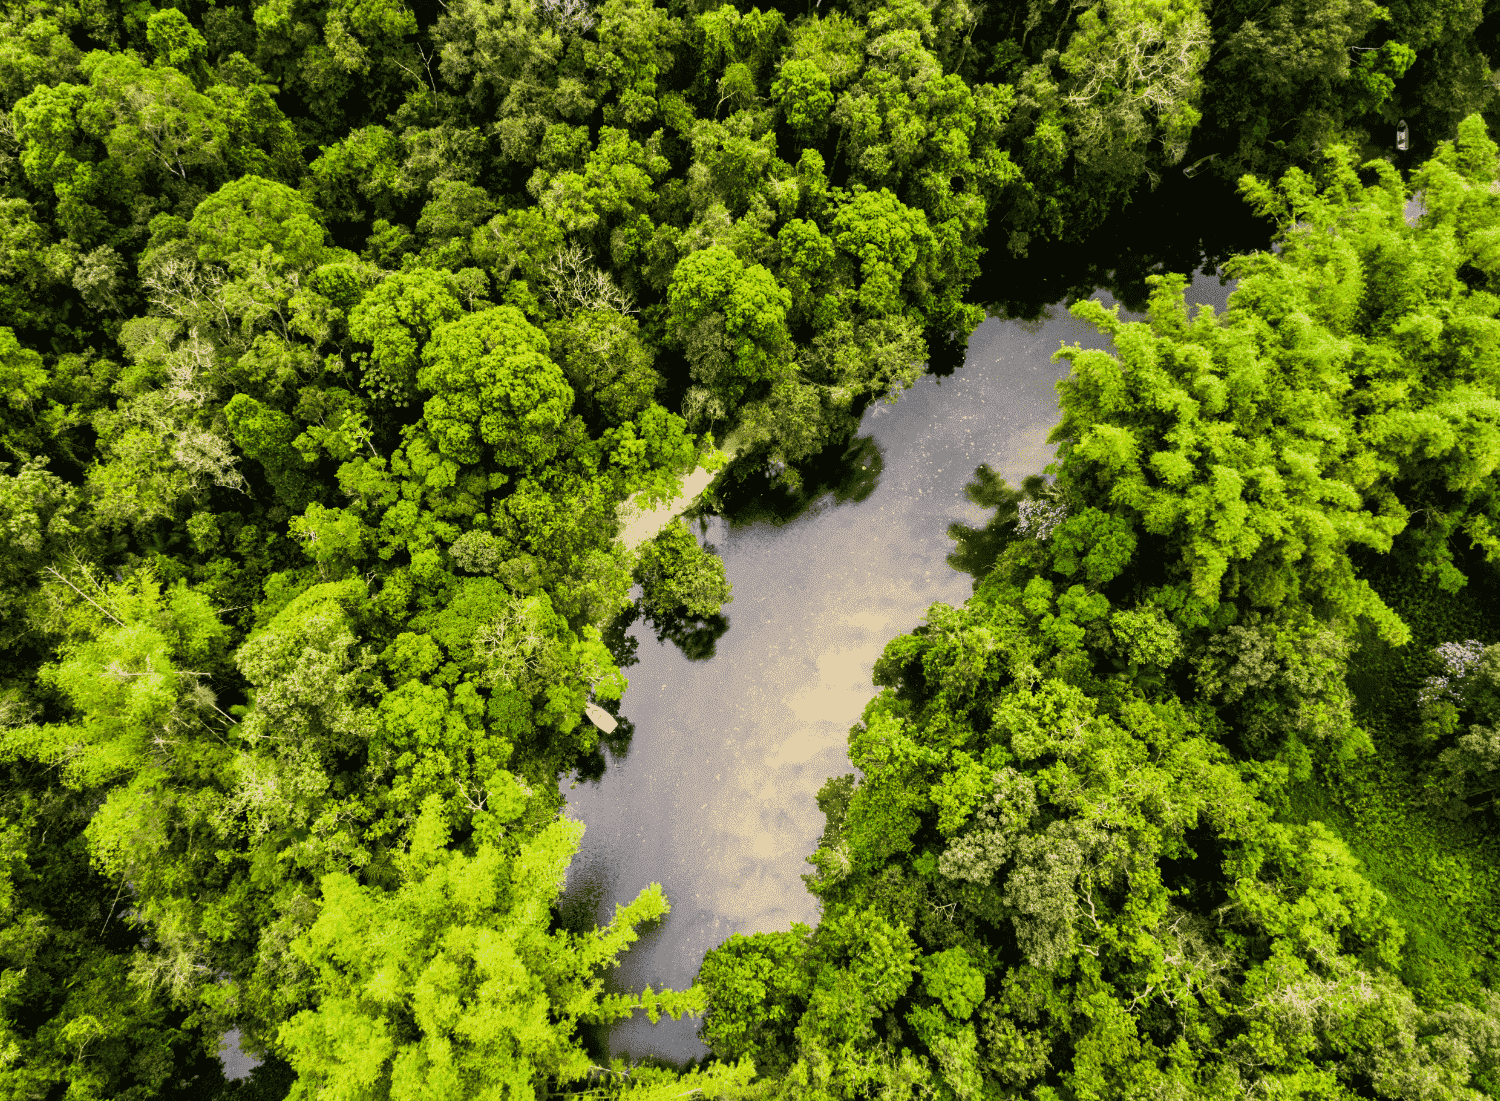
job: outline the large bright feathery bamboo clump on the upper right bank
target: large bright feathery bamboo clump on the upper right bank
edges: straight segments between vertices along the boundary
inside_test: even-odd
[[[1174,576],[1155,598],[1180,622],[1214,621],[1224,597],[1274,608],[1306,594],[1400,640],[1348,548],[1388,549],[1408,514],[1431,508],[1419,540],[1450,586],[1462,576],[1449,540],[1464,531],[1488,546],[1484,471],[1500,452],[1480,350],[1496,321],[1491,296],[1456,268],[1482,262],[1486,206],[1464,196],[1492,177],[1480,166],[1492,148],[1474,122],[1424,170],[1432,213],[1419,228],[1389,166],[1377,162],[1362,188],[1340,150],[1323,190],[1294,170],[1276,189],[1246,182],[1287,238],[1280,255],[1236,261],[1242,282],[1222,316],[1190,321],[1170,279],[1149,324],[1074,308],[1114,336],[1119,358],[1059,352],[1076,370],[1056,432],[1070,478],[1083,492],[1107,484],[1119,516],[1161,548]]]

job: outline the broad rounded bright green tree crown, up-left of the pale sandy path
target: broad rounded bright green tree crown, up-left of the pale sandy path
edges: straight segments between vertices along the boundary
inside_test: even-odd
[[[556,454],[573,387],[548,357],[548,338],[514,306],[470,314],[434,330],[417,384],[432,393],[426,424],[441,452],[478,462],[488,444],[501,466],[538,466]]]

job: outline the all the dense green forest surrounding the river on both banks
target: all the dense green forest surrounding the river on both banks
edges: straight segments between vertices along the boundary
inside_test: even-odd
[[[0,1094],[1500,1095],[1476,0],[0,12]],[[669,903],[562,920],[556,782],[729,596],[620,504],[1062,297],[1116,352],[878,663],[820,924],[608,992]]]

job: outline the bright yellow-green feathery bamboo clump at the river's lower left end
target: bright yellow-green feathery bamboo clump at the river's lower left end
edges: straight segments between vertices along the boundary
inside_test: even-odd
[[[483,794],[474,855],[447,850],[436,798],[423,804],[393,892],[345,874],[322,880],[318,920],[292,951],[316,975],[320,1005],[280,1030],[298,1082],[291,1096],[532,1096],[543,1080],[585,1077],[573,1028],[645,1008],[652,1022],[700,1006],[699,992],[603,994],[597,976],[666,915],[651,885],[606,928],[548,932],[582,826],[554,820],[507,836],[526,796],[506,772]]]

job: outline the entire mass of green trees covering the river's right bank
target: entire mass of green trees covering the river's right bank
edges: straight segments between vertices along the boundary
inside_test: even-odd
[[[1226,314],[1074,308],[1118,356],[1059,352],[1054,482],[981,471],[975,594],[886,646],[820,794],[822,922],[705,960],[718,1056],[784,1096],[1494,1095],[1497,172],[1470,118],[1408,226],[1335,147],[1246,183],[1281,249]]]

